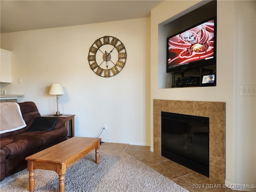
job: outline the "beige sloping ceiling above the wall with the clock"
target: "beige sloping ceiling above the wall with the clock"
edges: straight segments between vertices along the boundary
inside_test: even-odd
[[[1,0],[1,33],[150,17],[162,0]]]

